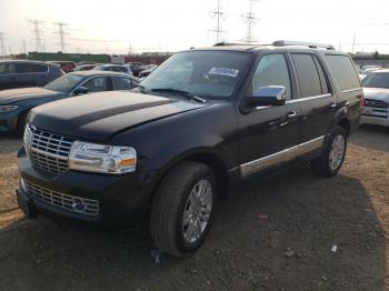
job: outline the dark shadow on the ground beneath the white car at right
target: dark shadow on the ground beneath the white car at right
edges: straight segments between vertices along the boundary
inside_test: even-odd
[[[350,142],[367,149],[389,152],[389,128],[362,124],[357,134],[351,136]]]

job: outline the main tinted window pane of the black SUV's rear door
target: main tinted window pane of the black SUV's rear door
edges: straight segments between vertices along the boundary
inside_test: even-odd
[[[321,82],[311,54],[291,54],[300,87],[300,98],[320,96]]]

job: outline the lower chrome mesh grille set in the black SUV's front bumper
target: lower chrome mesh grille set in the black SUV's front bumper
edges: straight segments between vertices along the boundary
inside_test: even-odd
[[[96,217],[99,214],[99,201],[73,197],[52,191],[21,179],[21,187],[29,195],[47,204],[71,212]]]

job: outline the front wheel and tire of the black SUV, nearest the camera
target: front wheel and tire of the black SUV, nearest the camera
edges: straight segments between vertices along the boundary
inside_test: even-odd
[[[196,195],[200,189],[207,190],[203,201]],[[150,234],[156,247],[178,258],[194,252],[211,225],[215,198],[215,173],[206,164],[182,162],[168,172],[151,208]]]

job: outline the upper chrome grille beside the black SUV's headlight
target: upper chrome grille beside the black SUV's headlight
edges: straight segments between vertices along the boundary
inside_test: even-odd
[[[27,126],[23,140],[33,165],[53,173],[68,170],[71,139]]]

